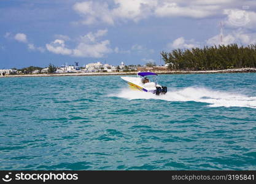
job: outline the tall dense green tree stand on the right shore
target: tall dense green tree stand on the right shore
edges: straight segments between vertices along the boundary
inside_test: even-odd
[[[171,70],[219,70],[241,67],[256,67],[256,44],[247,46],[214,45],[212,47],[175,49],[161,52]]]

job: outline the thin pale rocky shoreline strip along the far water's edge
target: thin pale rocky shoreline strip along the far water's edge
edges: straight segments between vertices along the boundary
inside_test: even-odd
[[[136,75],[136,72],[95,72],[95,73],[64,73],[64,74],[17,74],[0,75],[0,77],[60,77],[60,76],[93,76],[93,75]],[[152,71],[156,74],[225,74],[225,73],[254,73],[256,68],[225,69],[217,71]]]

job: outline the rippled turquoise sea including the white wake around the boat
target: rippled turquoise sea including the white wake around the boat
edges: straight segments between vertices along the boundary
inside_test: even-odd
[[[0,79],[0,169],[256,169],[256,74]]]

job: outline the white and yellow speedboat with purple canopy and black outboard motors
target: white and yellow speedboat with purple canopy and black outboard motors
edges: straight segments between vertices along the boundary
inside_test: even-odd
[[[153,80],[149,80],[147,77],[152,76]],[[157,74],[153,72],[138,72],[137,77],[121,77],[128,83],[130,88],[134,90],[140,90],[150,92],[153,94],[165,94],[167,93],[167,87],[161,86],[157,82]]]

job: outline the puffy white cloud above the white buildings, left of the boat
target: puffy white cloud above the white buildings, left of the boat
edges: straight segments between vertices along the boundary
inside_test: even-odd
[[[77,46],[75,48],[67,48],[65,41],[56,39],[50,44],[46,44],[46,48],[49,52],[71,55],[76,57],[91,57],[91,58],[103,58],[107,53],[113,52],[109,47],[109,40],[99,41],[99,37],[105,36],[107,29],[99,29],[96,33],[88,33],[84,36],[80,36],[77,39]]]

